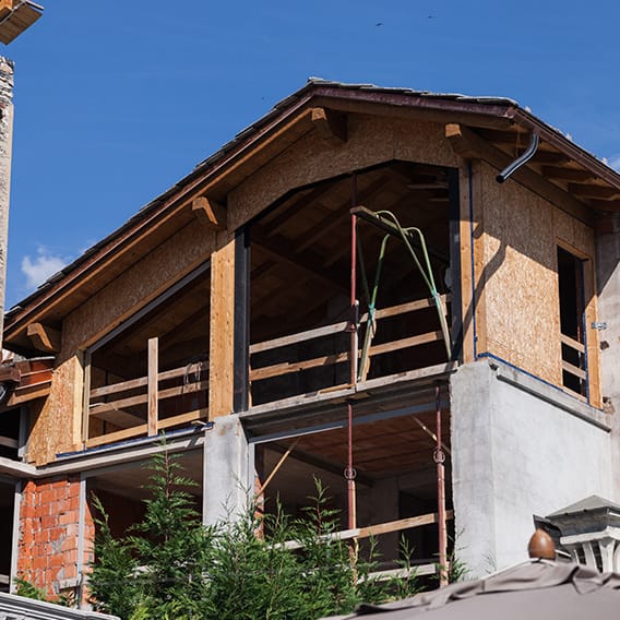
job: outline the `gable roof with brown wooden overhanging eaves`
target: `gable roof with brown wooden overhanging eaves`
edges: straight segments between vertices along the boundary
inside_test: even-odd
[[[583,220],[592,222],[596,211],[620,210],[620,175],[511,99],[310,81],[12,308],[5,317],[5,346],[34,353],[28,325],[60,326],[69,312],[190,224],[195,199],[225,205],[233,188],[306,133],[346,140],[348,114],[445,123],[446,139],[457,153],[497,168],[512,162],[536,131],[538,151],[514,174],[515,180],[534,186]]]

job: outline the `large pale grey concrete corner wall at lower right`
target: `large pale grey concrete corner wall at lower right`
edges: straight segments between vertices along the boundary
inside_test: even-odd
[[[610,419],[503,363],[451,380],[458,557],[480,576],[527,557],[533,515],[612,492]]]

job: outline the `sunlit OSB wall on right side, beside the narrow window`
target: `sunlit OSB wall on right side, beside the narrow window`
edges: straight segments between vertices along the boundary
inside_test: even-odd
[[[491,166],[477,170],[474,201],[482,210],[482,231],[476,281],[484,300],[478,321],[486,332],[478,354],[494,354],[560,385],[557,247],[569,243],[592,258],[594,231],[517,182],[498,183]]]

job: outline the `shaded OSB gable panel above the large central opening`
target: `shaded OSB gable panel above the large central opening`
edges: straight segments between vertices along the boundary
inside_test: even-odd
[[[334,146],[310,131],[228,194],[234,230],[287,191],[391,159],[458,166],[440,123],[348,115],[348,140]]]

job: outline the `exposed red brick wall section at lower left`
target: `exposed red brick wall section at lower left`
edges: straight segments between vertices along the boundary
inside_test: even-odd
[[[85,511],[84,558],[91,553],[94,525]],[[55,596],[78,577],[80,480],[29,480],[22,493],[17,574]]]

